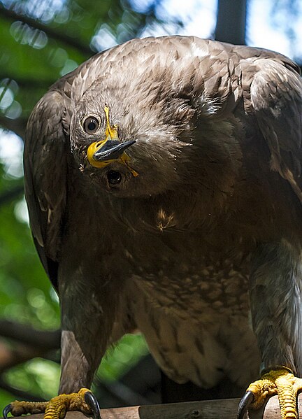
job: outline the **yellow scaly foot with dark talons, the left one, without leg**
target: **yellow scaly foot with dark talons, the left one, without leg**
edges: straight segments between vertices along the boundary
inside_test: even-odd
[[[67,411],[81,411],[85,415],[101,419],[99,404],[90,390],[81,388],[78,393],[59,395],[49,402],[12,402],[3,409],[3,417],[8,413],[21,416],[26,413],[45,413],[44,419],[63,419]]]

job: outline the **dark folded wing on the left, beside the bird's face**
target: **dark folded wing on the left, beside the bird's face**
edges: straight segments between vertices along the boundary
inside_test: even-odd
[[[57,287],[57,254],[66,203],[67,154],[62,94],[50,91],[27,123],[24,187],[29,221],[41,262]]]

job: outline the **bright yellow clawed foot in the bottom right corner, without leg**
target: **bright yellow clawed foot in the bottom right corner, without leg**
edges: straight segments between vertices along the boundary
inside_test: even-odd
[[[240,400],[237,418],[243,419],[247,409],[259,409],[268,397],[278,395],[281,418],[298,419],[296,399],[300,390],[302,378],[295,377],[289,369],[280,367],[268,371],[247,388]]]

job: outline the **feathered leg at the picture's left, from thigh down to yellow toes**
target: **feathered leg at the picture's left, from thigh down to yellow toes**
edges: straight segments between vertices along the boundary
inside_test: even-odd
[[[70,251],[69,255],[72,254]],[[13,402],[6,413],[10,411],[15,416],[45,411],[47,419],[62,419],[66,411],[77,410],[99,418],[98,403],[88,389],[110,339],[118,293],[113,292],[109,280],[102,282],[99,278],[97,261],[92,266],[88,258],[87,265],[80,269],[72,267],[78,264],[66,257],[59,271],[64,277],[60,281],[59,276],[62,315],[59,396],[44,404]],[[81,272],[87,273],[89,281],[80,276]]]

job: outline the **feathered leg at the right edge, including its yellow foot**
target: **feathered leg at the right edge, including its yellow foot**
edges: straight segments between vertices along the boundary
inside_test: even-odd
[[[252,262],[252,323],[264,373],[250,384],[240,402],[238,419],[247,408],[259,409],[278,395],[282,419],[299,417],[296,398],[301,374],[301,256],[287,241],[259,246]]]

